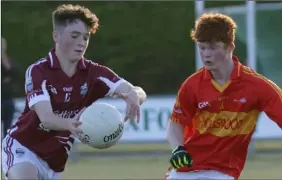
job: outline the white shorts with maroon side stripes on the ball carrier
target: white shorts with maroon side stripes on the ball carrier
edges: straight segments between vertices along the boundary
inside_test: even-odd
[[[32,163],[37,168],[39,179],[58,180],[60,177],[61,173],[54,172],[44,160],[7,135],[2,141],[3,173],[6,175],[11,166],[21,162]]]

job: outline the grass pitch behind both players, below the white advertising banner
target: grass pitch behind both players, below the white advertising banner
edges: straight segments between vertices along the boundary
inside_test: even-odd
[[[281,150],[282,141],[258,142],[257,150]],[[107,150],[94,150],[85,145],[77,147],[80,152],[129,153],[167,151],[167,155],[83,157],[74,163],[69,161],[62,179],[164,179],[168,167],[170,148],[167,144],[118,144]],[[267,153],[247,160],[240,179],[282,179],[282,154]]]

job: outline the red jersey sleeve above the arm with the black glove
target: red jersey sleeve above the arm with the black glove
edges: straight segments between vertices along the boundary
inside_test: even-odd
[[[196,113],[196,95],[189,81],[185,81],[177,94],[170,120],[193,128]]]

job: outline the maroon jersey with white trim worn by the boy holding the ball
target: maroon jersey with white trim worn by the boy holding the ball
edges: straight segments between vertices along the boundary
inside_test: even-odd
[[[43,127],[32,109],[40,101],[50,101],[53,112],[63,118],[74,117],[82,108],[105,96],[125,82],[112,70],[81,59],[77,72],[68,77],[60,68],[55,49],[48,56],[28,67],[25,74],[26,106],[9,131],[12,138],[29,148],[51,169],[61,172],[74,142],[69,131],[54,131]]]

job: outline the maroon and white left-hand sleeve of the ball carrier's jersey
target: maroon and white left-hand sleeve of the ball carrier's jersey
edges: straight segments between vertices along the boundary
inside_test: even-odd
[[[40,101],[50,101],[43,73],[34,65],[31,65],[25,73],[25,93],[30,109]]]

